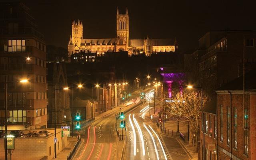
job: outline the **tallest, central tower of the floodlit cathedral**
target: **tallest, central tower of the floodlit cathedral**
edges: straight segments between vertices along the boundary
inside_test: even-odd
[[[117,8],[116,13],[116,44],[117,51],[127,50],[129,46],[129,15],[126,8],[126,14],[119,14]]]

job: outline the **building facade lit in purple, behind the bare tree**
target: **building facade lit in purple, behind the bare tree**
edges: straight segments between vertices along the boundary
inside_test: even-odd
[[[163,70],[163,69],[161,69]],[[161,73],[162,76],[164,76],[164,83],[166,87],[168,88],[168,97],[172,98],[172,89],[173,84],[176,83],[179,87],[180,94],[183,93],[183,87],[182,83],[185,80],[185,74],[184,73]]]

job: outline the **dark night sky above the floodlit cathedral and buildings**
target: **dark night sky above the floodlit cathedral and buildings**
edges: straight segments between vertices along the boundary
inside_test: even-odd
[[[244,0],[23,0],[47,45],[67,48],[72,20],[82,20],[84,38],[115,38],[116,8],[128,7],[130,38],[177,38],[180,50],[198,47],[210,30],[256,30],[254,4]],[[109,2],[109,3],[108,3]],[[153,3],[154,2],[154,3]],[[253,2],[253,1],[250,1]]]

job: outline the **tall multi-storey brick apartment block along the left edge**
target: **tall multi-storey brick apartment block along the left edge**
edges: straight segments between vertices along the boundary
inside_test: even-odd
[[[7,77],[8,130],[47,127],[46,45],[29,8],[0,4],[0,125],[4,125]],[[26,79],[28,82],[21,83]]]

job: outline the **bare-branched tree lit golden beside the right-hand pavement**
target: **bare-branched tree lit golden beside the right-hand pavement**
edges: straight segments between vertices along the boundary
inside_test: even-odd
[[[190,140],[189,144],[192,145],[193,134],[196,134],[196,142],[198,141],[199,127],[200,127],[200,109],[205,106],[208,101],[208,96],[201,93],[191,91],[184,92],[182,95],[177,93],[170,103],[162,103],[166,110],[166,113],[174,117],[184,117],[190,125]],[[197,151],[197,143],[196,143]]]

